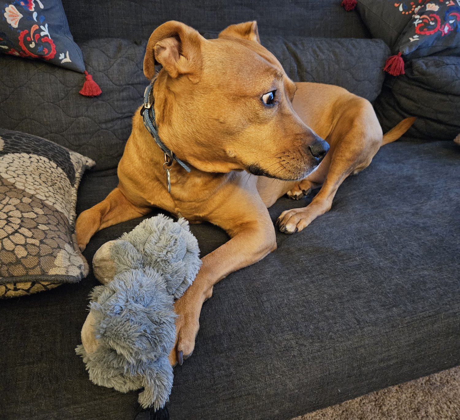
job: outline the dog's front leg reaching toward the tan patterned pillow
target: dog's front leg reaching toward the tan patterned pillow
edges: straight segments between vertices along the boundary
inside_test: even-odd
[[[75,222],[77,244],[81,251],[94,233],[104,227],[126,222],[150,212],[150,207],[137,207],[132,204],[117,187],[99,204],[83,211]]]

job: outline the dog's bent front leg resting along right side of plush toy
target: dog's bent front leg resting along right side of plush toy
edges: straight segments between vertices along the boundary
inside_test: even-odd
[[[222,227],[230,240],[201,259],[195,281],[174,303],[176,343],[170,353],[171,365],[182,364],[195,347],[203,302],[212,296],[213,286],[228,274],[264,258],[276,249],[275,229],[267,209],[258,203],[235,200],[214,212],[210,222]],[[238,210],[238,211],[236,211]]]

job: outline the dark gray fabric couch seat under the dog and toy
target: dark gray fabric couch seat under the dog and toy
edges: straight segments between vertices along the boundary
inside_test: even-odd
[[[174,369],[171,420],[288,420],[459,364],[459,165],[452,141],[386,145],[330,212],[277,232],[275,252],[218,283]],[[113,170],[86,174],[77,211],[116,184]],[[270,216],[310,200],[283,197]],[[140,220],[98,232],[85,257]],[[201,255],[227,240],[209,224],[191,231]],[[3,418],[134,418],[137,393],[92,385],[74,353],[97,284],[90,274],[0,304]]]

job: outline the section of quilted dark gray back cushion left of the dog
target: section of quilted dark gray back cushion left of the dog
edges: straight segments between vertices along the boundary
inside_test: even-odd
[[[147,85],[145,47],[119,39],[82,44],[86,68],[103,91],[98,98],[78,93],[75,72],[0,55],[0,126],[89,156],[97,169],[115,168]]]

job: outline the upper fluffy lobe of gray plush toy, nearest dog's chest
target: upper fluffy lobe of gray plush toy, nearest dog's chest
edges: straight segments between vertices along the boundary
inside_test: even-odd
[[[181,297],[200,268],[199,248],[184,218],[164,215],[144,220],[120,239],[102,245],[92,260],[93,272],[103,284],[132,268],[151,267],[162,274],[167,292]]]

